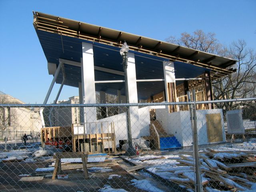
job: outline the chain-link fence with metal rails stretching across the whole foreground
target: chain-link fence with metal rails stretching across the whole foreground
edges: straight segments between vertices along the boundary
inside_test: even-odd
[[[2,104],[0,190],[256,190],[255,111],[214,108],[240,101]]]

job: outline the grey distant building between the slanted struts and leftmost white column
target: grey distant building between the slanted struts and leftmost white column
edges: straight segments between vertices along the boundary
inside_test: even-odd
[[[57,101],[57,104],[79,104],[79,96],[72,96],[69,100]],[[71,126],[80,122],[79,107],[74,108],[44,108],[44,122],[46,127]]]

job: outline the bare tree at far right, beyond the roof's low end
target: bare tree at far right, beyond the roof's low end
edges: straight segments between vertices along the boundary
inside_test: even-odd
[[[215,99],[251,98],[256,96],[256,52],[246,48],[244,40],[233,42],[225,48],[226,56],[237,60],[236,72],[212,83]],[[246,103],[230,102],[218,104],[224,110],[239,108]],[[247,104],[253,104],[252,102]]]

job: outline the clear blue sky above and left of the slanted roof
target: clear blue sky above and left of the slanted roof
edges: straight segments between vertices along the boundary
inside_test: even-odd
[[[223,44],[244,39],[256,49],[255,0],[0,0],[0,90],[30,104],[44,101],[52,81],[33,10],[158,40],[202,29]],[[74,95],[78,88],[64,86],[59,99]]]

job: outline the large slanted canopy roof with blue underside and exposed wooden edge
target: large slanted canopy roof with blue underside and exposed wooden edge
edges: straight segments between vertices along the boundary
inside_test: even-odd
[[[210,71],[212,78],[226,76],[233,72],[226,67],[236,61],[198,50],[146,38],[118,30],[69,20],[40,12],[34,13],[34,27],[44,50],[46,59],[58,65],[59,59],[80,63],[82,57],[82,42],[94,44],[95,80],[124,80],[122,75],[122,58],[119,54],[124,40],[131,52],[135,53],[136,78],[162,79],[163,60],[172,60],[175,67],[176,78],[191,78]],[[146,67],[145,67],[146,66]],[[101,68],[116,70],[120,74],[108,74]],[[62,82],[66,76],[66,85],[77,86],[81,82],[80,67],[65,63],[57,83]],[[102,78],[104,77],[104,78]],[[114,86],[114,87],[112,87]],[[163,82],[154,82],[146,86],[146,82],[137,82],[138,97],[146,98],[148,94],[156,94],[164,90]],[[140,89],[141,88],[141,89]],[[150,89],[151,88],[151,89]],[[119,89],[124,93],[124,84],[96,84],[96,90]],[[150,90],[146,90],[150,89]]]

